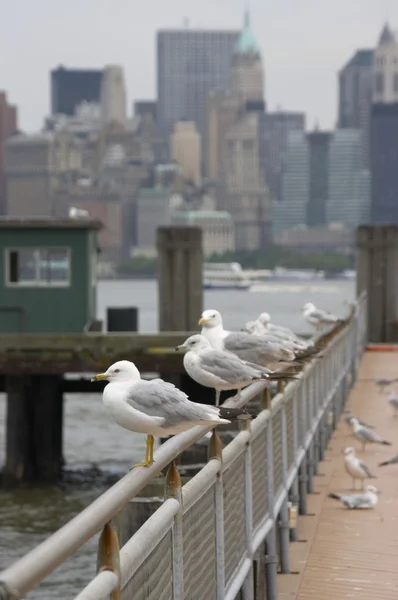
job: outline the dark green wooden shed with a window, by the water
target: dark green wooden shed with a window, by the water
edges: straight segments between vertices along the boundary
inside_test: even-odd
[[[91,329],[101,227],[88,218],[0,218],[0,333]]]

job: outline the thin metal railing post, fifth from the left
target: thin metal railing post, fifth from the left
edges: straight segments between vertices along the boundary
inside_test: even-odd
[[[268,419],[267,423],[267,468],[268,468],[268,506],[269,512],[272,515],[274,521],[273,526],[268,532],[266,543],[267,543],[267,554],[265,557],[266,570],[267,570],[267,600],[277,600],[278,598],[278,587],[277,587],[277,574],[278,574],[278,555],[276,550],[276,533],[275,533],[275,510],[274,510],[274,459],[273,459],[273,447],[272,447],[272,416]]]

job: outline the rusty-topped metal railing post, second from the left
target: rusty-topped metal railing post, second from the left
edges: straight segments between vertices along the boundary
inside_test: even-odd
[[[165,497],[175,498],[180,504],[180,510],[174,517],[173,523],[173,600],[184,598],[184,553],[183,553],[183,511],[182,511],[182,482],[173,461],[167,471]]]

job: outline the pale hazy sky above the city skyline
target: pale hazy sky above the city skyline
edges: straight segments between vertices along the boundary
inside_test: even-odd
[[[20,127],[49,113],[49,71],[121,64],[129,110],[156,94],[155,33],[183,26],[240,28],[245,0],[2,0],[0,89],[19,107]],[[373,47],[386,20],[398,29],[397,0],[250,0],[263,49],[266,99],[303,110],[322,128],[336,119],[339,68]]]

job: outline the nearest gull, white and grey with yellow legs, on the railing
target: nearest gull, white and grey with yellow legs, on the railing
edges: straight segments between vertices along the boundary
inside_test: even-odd
[[[244,409],[217,408],[191,402],[172,383],[162,379],[141,379],[134,363],[120,360],[99,373],[92,381],[108,380],[102,400],[108,414],[124,429],[145,433],[145,459],[134,467],[150,467],[154,463],[154,438],[168,437],[196,425],[207,427],[230,423],[230,419],[247,419]]]

